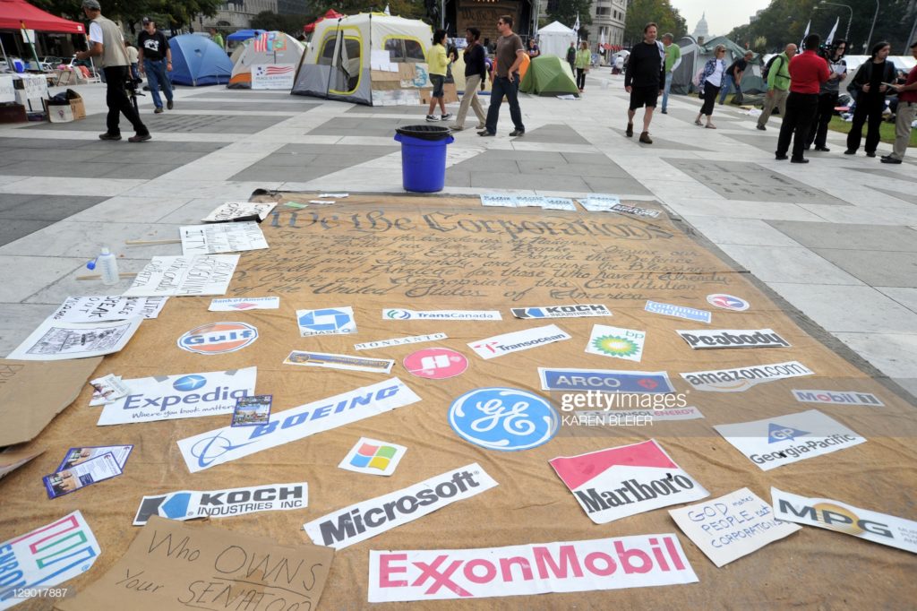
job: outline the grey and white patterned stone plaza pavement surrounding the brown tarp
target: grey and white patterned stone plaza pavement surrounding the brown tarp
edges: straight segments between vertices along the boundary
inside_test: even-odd
[[[136,272],[181,247],[127,247],[125,239],[175,239],[182,224],[255,189],[402,192],[394,129],[425,115],[420,106],[179,88],[175,109],[161,115],[140,98],[153,140],[133,145],[96,139],[104,85],[80,93],[82,121],[0,126],[0,354],[67,295],[105,292],[76,280],[102,245],[124,256],[121,271]],[[506,108],[497,138],[455,134],[445,192],[661,202],[917,394],[917,151],[887,170],[862,152],[842,155],[844,137],[831,133],[830,153],[790,165],[774,160],[776,117],[762,133],[752,117],[717,106],[719,129],[697,128],[699,103],[684,96],[654,117],[655,143],[646,145],[624,138],[626,105],[623,80],[598,73],[580,101],[523,95],[525,137],[507,136]]]

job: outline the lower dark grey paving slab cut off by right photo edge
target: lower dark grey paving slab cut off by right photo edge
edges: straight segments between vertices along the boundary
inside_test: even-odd
[[[917,230],[888,225],[765,221],[810,249],[917,252]]]

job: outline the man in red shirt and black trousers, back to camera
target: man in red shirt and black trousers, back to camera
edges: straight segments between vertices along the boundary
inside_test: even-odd
[[[805,37],[805,51],[790,60],[790,96],[787,98],[787,114],[783,117],[777,140],[777,161],[787,158],[790,139],[793,139],[793,132],[796,132],[790,163],[809,162],[802,158],[802,151],[805,150],[812,119],[818,110],[818,93],[822,83],[831,75],[828,62],[816,53],[821,42],[822,37],[818,34],[810,34]]]

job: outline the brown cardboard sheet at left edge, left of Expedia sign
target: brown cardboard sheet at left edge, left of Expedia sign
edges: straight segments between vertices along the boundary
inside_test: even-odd
[[[76,400],[100,362],[102,357],[47,362],[0,359],[0,447],[37,437]]]

